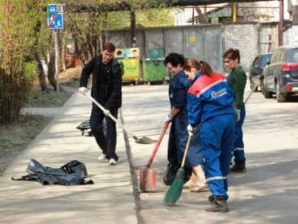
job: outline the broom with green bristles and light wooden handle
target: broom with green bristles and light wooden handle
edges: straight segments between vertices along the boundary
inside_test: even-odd
[[[189,135],[187,139],[187,145],[185,147],[185,151],[183,154],[183,159],[182,159],[182,164],[180,169],[178,169],[177,174],[175,176],[175,180],[173,181],[172,185],[170,188],[167,190],[167,193],[165,194],[165,198],[163,198],[163,202],[165,203],[166,206],[175,206],[176,201],[181,196],[182,189],[183,189],[183,184],[184,184],[184,163],[186,160],[187,156],[187,151],[189,149],[189,144],[190,140],[192,139],[192,136]]]

